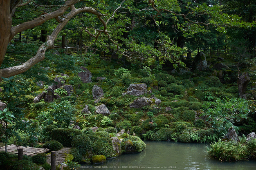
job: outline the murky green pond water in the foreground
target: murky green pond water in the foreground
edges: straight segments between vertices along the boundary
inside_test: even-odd
[[[220,162],[205,152],[209,144],[184,144],[168,141],[145,141],[141,153],[122,154],[94,165],[81,165],[79,170],[256,170],[256,161]]]

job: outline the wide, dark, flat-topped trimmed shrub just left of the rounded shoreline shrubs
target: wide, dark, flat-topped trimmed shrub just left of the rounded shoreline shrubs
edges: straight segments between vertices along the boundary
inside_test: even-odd
[[[71,147],[73,137],[81,134],[77,129],[56,128],[52,130],[52,139],[61,142],[64,147]]]

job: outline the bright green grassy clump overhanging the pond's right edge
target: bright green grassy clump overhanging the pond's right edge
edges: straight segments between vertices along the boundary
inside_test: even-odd
[[[207,147],[209,157],[219,161],[239,161],[248,159],[247,147],[238,142],[213,142]]]

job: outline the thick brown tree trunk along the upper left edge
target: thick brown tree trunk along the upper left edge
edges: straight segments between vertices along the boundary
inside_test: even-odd
[[[0,1],[0,65],[4,61],[4,55],[7,51],[9,38],[11,37],[11,11],[10,1]]]

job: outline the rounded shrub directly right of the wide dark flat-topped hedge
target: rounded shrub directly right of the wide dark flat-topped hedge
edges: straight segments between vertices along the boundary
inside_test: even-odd
[[[84,150],[91,150],[93,143],[86,134],[77,135],[72,139],[72,148],[82,148]],[[73,155],[74,156],[74,155]]]

